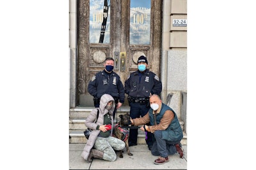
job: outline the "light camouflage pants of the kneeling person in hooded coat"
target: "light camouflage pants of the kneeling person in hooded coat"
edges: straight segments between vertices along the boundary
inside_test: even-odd
[[[104,152],[104,160],[115,161],[116,153],[115,150],[122,150],[125,147],[124,141],[109,136],[108,138],[98,137],[93,146],[95,149]]]

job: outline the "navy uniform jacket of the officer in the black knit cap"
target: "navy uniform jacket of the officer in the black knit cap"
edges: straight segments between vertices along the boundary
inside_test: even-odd
[[[139,71],[130,74],[125,81],[125,93],[131,97],[149,97],[151,94],[160,94],[162,91],[162,82],[158,76],[148,69],[140,75]]]

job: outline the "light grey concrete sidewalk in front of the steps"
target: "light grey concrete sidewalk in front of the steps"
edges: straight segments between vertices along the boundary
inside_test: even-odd
[[[184,159],[179,157],[179,153],[169,155],[169,162],[162,165],[154,164],[157,156],[151,154],[147,145],[131,146],[132,156],[127,155],[124,148],[124,158],[119,158],[115,162],[101,159],[93,159],[92,163],[87,163],[81,157],[85,144],[69,144],[69,169],[187,169],[187,146],[183,145],[185,151]]]

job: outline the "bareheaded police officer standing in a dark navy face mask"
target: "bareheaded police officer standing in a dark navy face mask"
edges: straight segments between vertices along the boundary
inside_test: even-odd
[[[114,59],[106,58],[104,62],[105,69],[99,71],[88,84],[88,92],[93,96],[95,108],[99,108],[100,97],[103,94],[109,94],[115,99],[115,110],[113,118],[115,118],[116,109],[120,108],[124,103],[124,85],[120,80],[120,76],[113,71]]]

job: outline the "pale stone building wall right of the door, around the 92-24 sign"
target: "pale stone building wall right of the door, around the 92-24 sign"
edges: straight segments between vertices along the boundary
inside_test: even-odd
[[[182,95],[187,92],[187,27],[173,27],[172,20],[187,18],[187,1],[164,0],[163,3],[162,99],[179,119],[184,119]]]

